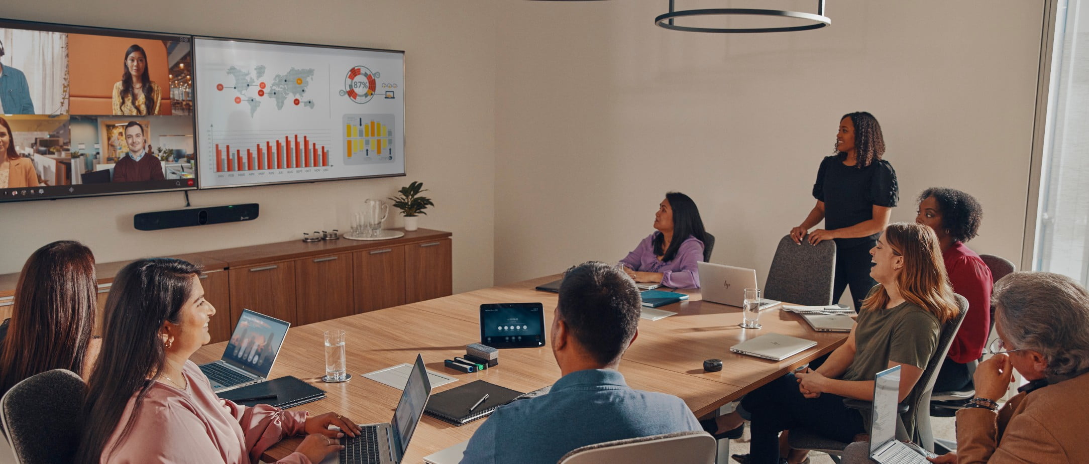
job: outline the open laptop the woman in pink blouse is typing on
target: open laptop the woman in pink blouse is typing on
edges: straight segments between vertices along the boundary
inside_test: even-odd
[[[393,411],[393,420],[360,425],[360,434],[357,437],[340,438],[340,444],[344,449],[326,456],[321,464],[400,463],[430,398],[431,381],[427,378],[424,357],[417,354],[404,392],[401,393],[401,401]]]

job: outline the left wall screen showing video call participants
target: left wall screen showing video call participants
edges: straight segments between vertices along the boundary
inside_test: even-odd
[[[191,36],[0,20],[0,202],[195,188]]]

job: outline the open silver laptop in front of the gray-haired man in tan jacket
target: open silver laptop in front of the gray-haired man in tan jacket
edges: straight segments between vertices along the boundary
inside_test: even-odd
[[[896,440],[896,403],[900,400],[900,366],[873,376],[873,414],[870,415],[870,459],[881,464],[928,464],[928,453]]]

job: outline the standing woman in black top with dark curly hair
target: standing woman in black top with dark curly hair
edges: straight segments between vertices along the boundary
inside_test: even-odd
[[[851,286],[855,310],[877,282],[870,278],[870,248],[889,224],[896,206],[896,171],[882,160],[884,138],[881,124],[866,111],[845,114],[835,135],[835,155],[824,157],[817,170],[813,198],[817,206],[794,229],[797,244],[807,240],[816,245],[835,240],[835,283],[832,300],[840,301]],[[824,220],[824,229],[806,236],[810,228]]]

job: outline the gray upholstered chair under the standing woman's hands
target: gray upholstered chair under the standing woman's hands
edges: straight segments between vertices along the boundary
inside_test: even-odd
[[[763,297],[797,305],[832,304],[835,241],[798,245],[790,235],[779,241],[763,284]]]

